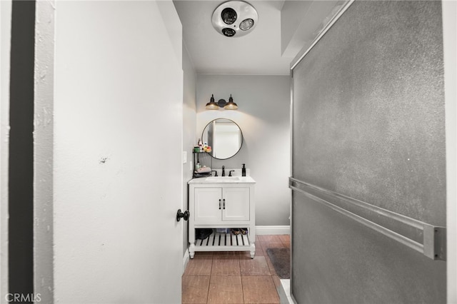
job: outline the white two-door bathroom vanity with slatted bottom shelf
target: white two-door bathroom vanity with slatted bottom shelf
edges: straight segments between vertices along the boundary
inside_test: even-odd
[[[189,181],[189,253],[249,251],[256,253],[254,186],[251,176],[211,176]],[[204,240],[196,229],[212,229]],[[218,232],[227,230],[226,232]]]

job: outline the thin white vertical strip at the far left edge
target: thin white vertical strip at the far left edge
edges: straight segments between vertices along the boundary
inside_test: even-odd
[[[8,292],[8,156],[11,1],[0,1],[0,303]]]

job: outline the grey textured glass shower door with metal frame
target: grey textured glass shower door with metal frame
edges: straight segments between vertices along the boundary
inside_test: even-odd
[[[442,39],[440,1],[355,1],[293,68],[292,178],[320,189],[293,191],[297,303],[446,303],[445,261],[320,203],[446,226]]]

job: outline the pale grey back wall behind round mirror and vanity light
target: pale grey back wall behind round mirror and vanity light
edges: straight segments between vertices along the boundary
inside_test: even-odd
[[[243,132],[236,156],[214,160],[213,168],[241,168],[256,180],[256,226],[288,226],[290,191],[289,76],[197,75],[197,136],[214,118],[229,118]],[[205,109],[211,94],[238,104],[238,110]],[[191,148],[191,147],[189,147]]]

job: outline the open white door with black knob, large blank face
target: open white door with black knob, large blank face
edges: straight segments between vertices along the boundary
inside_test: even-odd
[[[179,303],[183,74],[173,4],[56,1],[55,23],[54,301]]]

